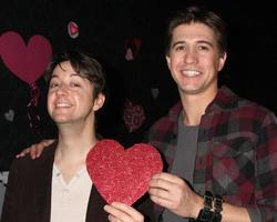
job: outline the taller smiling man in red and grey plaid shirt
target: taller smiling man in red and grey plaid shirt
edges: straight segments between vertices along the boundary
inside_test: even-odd
[[[148,191],[162,221],[277,221],[276,117],[218,88],[225,29],[197,7],[168,24],[165,56],[181,101],[146,137],[168,164]]]

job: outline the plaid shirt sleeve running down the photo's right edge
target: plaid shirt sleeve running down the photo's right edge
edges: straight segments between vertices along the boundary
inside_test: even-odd
[[[253,222],[277,221],[277,120],[269,113],[256,147],[255,205],[248,208]]]

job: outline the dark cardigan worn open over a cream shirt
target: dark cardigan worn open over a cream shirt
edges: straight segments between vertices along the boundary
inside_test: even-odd
[[[28,155],[13,161],[1,222],[50,222],[55,147],[57,143],[47,148],[39,159],[31,160]],[[105,204],[92,185],[85,221],[107,222],[107,213],[103,210]],[[145,215],[145,221],[154,221],[153,204],[147,195],[140,199],[134,206]]]

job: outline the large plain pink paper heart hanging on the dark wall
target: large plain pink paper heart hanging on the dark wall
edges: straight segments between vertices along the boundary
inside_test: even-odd
[[[45,71],[52,56],[52,48],[42,36],[31,37],[25,46],[20,34],[9,31],[1,36],[0,52],[9,70],[31,84]]]

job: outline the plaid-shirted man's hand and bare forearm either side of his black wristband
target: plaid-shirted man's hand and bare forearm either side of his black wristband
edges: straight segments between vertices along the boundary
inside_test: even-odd
[[[170,174],[160,173],[150,181],[151,200],[173,213],[196,219],[204,208],[204,199],[195,193],[184,180]],[[223,222],[250,222],[247,209],[223,203]]]

